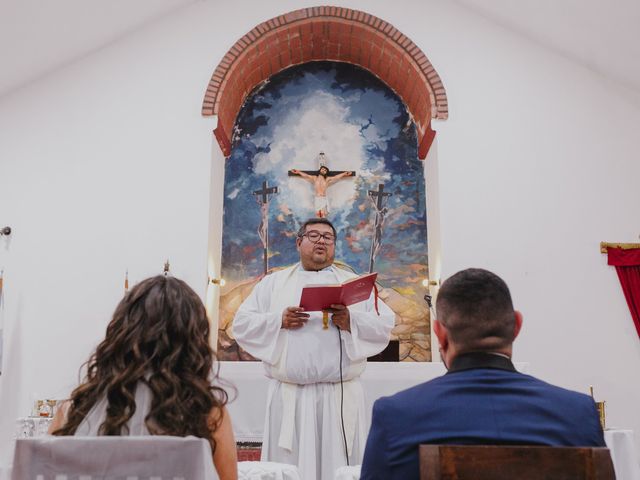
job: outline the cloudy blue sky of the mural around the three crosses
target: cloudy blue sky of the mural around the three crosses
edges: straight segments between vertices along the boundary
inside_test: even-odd
[[[226,163],[222,274],[231,281],[262,274],[260,208],[252,192],[267,181],[279,193],[269,205],[270,267],[298,260],[295,232],[313,216],[313,188],[288,177],[314,170],[325,152],[332,170],[356,177],[329,187],[329,218],[339,233],[336,259],[365,272],[378,184],[392,192],[382,249],[374,270],[384,286],[418,295],[427,275],[422,162],[416,132],[401,100],[370,73],[348,64],[316,62],[287,69],[243,106]]]

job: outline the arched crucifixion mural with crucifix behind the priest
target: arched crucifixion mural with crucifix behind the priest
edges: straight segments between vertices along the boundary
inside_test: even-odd
[[[225,164],[220,359],[252,359],[233,338],[235,311],[265,274],[298,261],[298,228],[323,216],[338,232],[336,265],[378,272],[379,296],[396,314],[397,360],[431,360],[417,149],[402,100],[359,67],[306,63],[252,92]]]

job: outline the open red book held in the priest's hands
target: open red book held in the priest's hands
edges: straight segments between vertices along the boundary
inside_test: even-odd
[[[332,304],[353,305],[371,296],[378,274],[367,273],[337,285],[307,285],[302,289],[300,306],[307,312],[331,308]]]

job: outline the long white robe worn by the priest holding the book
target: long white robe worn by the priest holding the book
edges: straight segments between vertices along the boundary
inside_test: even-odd
[[[358,377],[367,357],[388,344],[394,313],[379,300],[378,315],[373,295],[350,306],[351,332],[341,332],[340,345],[338,329],[331,322],[329,330],[322,329],[321,312],[309,312],[306,325],[288,330],[281,328],[282,311],[299,305],[305,285],[341,283],[354,276],[333,266],[315,272],[296,264],[264,277],[233,320],[238,344],[262,360],[272,378],[262,460],[297,465],[305,480],[332,480],[335,470],[347,464],[341,397],[349,463],[362,463],[367,432]]]

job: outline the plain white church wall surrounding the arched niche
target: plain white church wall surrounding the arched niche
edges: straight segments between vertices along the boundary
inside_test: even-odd
[[[450,3],[336,3],[394,24],[447,88],[432,258],[442,277],[468,266],[503,276],[525,315],[516,360],[553,383],[594,385],[610,424],[640,432],[640,340],[598,251],[601,240],[640,233],[638,106]],[[201,2],[0,98],[0,226],[15,232],[0,240],[0,465],[29,402],[77,381],[125,269],[135,281],[169,258],[204,297],[207,270],[218,268],[207,256],[208,242],[219,245],[208,238],[209,183],[220,188],[223,168],[202,97],[237,38],[300,7]]]

